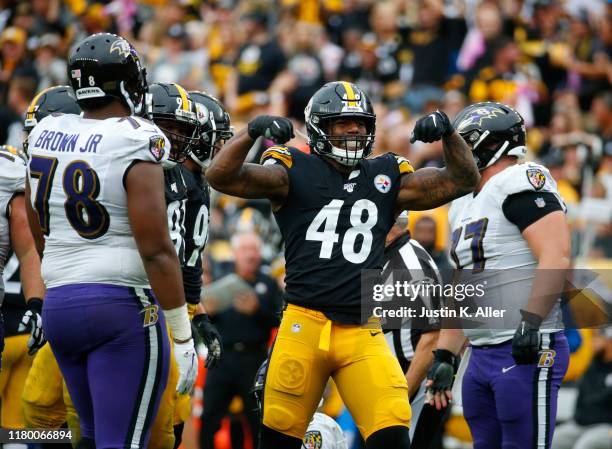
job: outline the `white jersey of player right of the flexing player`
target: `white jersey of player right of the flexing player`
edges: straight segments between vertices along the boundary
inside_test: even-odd
[[[509,315],[481,319],[490,324],[489,329],[464,329],[472,344],[510,340],[520,322],[519,309],[524,309],[529,300],[537,260],[520,229],[502,209],[509,195],[525,191],[551,192],[565,210],[548,169],[532,162],[507,167],[491,177],[476,196],[469,193],[451,203],[451,260],[455,268],[464,269],[470,282],[485,283],[485,296],[476,305],[506,310]],[[535,207],[544,207],[543,201],[536,197]],[[556,306],[544,320],[542,330],[556,331],[559,323],[560,308]]]

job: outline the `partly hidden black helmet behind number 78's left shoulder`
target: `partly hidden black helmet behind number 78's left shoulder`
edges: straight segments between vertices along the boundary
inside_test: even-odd
[[[26,133],[29,134],[38,122],[55,112],[81,114],[81,107],[70,86],[48,87],[36,94],[26,110],[24,121]]]

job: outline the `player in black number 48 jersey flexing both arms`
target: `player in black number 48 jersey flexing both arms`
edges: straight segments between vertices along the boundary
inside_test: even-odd
[[[478,169],[440,111],[417,121],[412,140],[442,139],[445,168],[414,171],[394,154],[368,159],[376,116],[354,84],[323,86],[305,119],[312,154],[282,145],[293,137],[288,119],[259,116],[207,170],[221,192],[268,198],[285,240],[288,305],[265,382],[260,449],[300,448],[330,376],[367,448],[408,448],[408,386],[379,324],[361,326],[361,270],[380,270],[400,211],[465,195]],[[261,136],[278,145],[261,165],[244,163]]]

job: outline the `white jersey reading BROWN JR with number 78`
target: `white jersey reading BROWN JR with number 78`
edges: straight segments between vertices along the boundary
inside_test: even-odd
[[[125,176],[136,161],[164,163],[170,143],[135,117],[50,115],[30,133],[31,202],[45,234],[47,288],[76,283],[148,287],[132,235]]]

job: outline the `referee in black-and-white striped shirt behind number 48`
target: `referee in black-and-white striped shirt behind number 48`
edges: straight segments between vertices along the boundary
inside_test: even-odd
[[[404,211],[387,234],[382,278],[384,283],[419,282],[430,279],[442,282],[436,263],[429,253],[410,238],[408,212]],[[440,308],[439,297],[419,296],[412,307]],[[404,318],[401,329],[385,329],[385,338],[406,374],[410,389],[412,448],[428,448],[436,434],[444,410],[425,404],[425,376],[433,363],[433,350],[438,340],[439,318]]]

